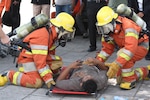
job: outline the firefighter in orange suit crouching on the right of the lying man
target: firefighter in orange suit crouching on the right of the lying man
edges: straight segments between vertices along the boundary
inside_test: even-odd
[[[133,70],[136,61],[145,57],[148,52],[148,36],[141,36],[141,27],[134,21],[119,16],[110,7],[104,6],[97,13],[97,30],[102,34],[102,49],[96,59],[105,62],[119,48],[117,57],[109,67],[108,78],[117,77],[121,89],[132,89],[137,80],[148,76],[150,67],[139,67]]]

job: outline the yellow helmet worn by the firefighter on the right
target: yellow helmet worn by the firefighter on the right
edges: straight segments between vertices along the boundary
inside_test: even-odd
[[[118,17],[118,14],[115,13],[109,6],[102,7],[97,12],[97,26],[103,26],[110,23],[113,19]]]

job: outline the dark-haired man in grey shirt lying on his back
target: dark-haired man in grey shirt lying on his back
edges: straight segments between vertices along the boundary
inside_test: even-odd
[[[108,67],[95,58],[88,58],[85,61],[78,60],[62,71],[56,80],[56,87],[95,93],[107,86],[107,70]]]

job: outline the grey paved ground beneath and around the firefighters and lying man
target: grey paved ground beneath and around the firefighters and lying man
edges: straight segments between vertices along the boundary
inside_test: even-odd
[[[58,47],[57,54],[63,58],[64,66],[66,66],[78,59],[84,60],[87,57],[94,57],[96,51],[87,52],[88,46],[88,39],[76,36],[71,42],[67,42],[66,47]],[[99,39],[97,40],[97,47],[98,51],[101,48]],[[116,54],[114,53],[108,59],[108,62],[113,61],[115,57]],[[147,64],[149,64],[149,61],[143,59],[137,62],[135,67]],[[0,73],[10,69],[17,70],[15,64],[13,64],[13,57],[0,58]],[[108,84],[108,87],[100,91],[97,97],[95,95],[61,95],[51,93],[45,95],[48,91],[45,87],[31,89],[7,84],[0,87],[0,100],[150,100],[150,81],[138,82],[136,88],[132,90],[121,90],[119,86],[115,85],[113,79],[109,80]]]

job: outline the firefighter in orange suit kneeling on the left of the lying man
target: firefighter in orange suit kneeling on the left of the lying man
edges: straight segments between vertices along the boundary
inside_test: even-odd
[[[23,48],[19,54],[17,63],[22,70],[10,70],[0,75],[0,86],[8,81],[30,88],[40,88],[43,82],[48,88],[55,85],[53,75],[62,66],[61,57],[55,55],[55,44],[65,46],[67,34],[74,32],[75,21],[71,15],[62,12],[50,19],[50,23],[50,27],[40,27],[23,39],[31,50]]]

